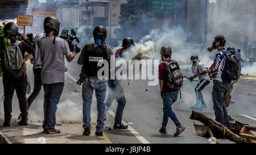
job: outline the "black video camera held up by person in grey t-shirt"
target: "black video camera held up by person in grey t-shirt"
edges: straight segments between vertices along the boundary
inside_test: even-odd
[[[76,31],[72,28],[71,29],[71,35],[68,34],[68,30],[62,30],[60,33],[60,37],[67,40],[69,50],[73,51],[73,47],[76,45],[73,44],[73,40],[76,40],[77,43],[80,43],[79,38],[76,36]],[[81,48],[76,47],[76,53],[79,53],[81,51]]]

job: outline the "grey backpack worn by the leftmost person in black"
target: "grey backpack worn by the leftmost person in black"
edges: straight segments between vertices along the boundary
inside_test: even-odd
[[[10,45],[9,48],[5,49],[3,55],[5,68],[8,70],[10,77],[13,78],[22,76],[25,68],[22,52],[18,47],[20,43],[21,41],[16,41],[15,44]]]

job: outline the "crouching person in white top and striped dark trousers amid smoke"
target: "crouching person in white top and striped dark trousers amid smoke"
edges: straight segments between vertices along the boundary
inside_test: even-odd
[[[196,77],[199,77],[200,82],[197,84],[195,88],[196,92],[196,104],[191,108],[207,108],[207,105],[204,103],[203,94],[201,91],[210,83],[210,77],[208,75],[208,70],[205,68],[205,65],[202,64],[197,55],[191,56],[191,62],[193,63],[191,69],[194,76],[190,77],[188,80],[193,81]],[[201,104],[200,104],[201,103]]]

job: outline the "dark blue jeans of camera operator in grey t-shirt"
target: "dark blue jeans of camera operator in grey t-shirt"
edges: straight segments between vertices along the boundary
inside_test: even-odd
[[[44,122],[43,128],[55,129],[57,104],[63,91],[64,83],[44,84]]]

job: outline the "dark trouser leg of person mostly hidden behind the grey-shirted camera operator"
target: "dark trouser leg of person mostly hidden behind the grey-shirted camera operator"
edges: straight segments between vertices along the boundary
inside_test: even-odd
[[[27,110],[30,109],[32,102],[38,96],[38,94],[40,93],[40,90],[42,88],[41,71],[42,71],[42,68],[34,69],[34,90],[33,90],[32,94],[30,95],[30,97],[27,98],[27,104],[28,104]]]

